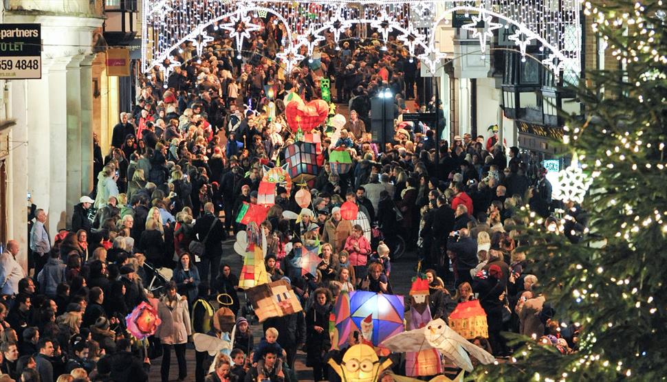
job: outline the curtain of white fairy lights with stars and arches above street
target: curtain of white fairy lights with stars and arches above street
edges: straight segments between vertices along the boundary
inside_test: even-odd
[[[190,1],[146,0],[143,3],[142,69],[157,66],[168,74],[179,65],[171,59],[184,44],[197,53],[212,42],[210,32],[227,30],[236,52],[243,50],[251,32],[260,30],[259,18],[281,28],[283,38],[276,41],[278,61],[288,71],[300,60],[312,56],[318,44],[332,36],[340,37],[354,29],[358,37],[377,32],[386,43],[389,34],[406,47],[430,71],[446,58],[437,42],[437,27],[452,27],[452,15],[463,14],[461,25],[478,38],[482,59],[488,44],[505,21],[516,26],[510,36],[518,51],[538,43],[547,52],[542,63],[560,76],[562,71],[580,71],[580,0],[265,0],[265,1]],[[382,47],[386,49],[386,46]],[[525,58],[524,58],[525,59]]]

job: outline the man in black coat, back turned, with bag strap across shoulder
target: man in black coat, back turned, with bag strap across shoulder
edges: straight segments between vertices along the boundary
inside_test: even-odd
[[[214,215],[213,203],[204,205],[204,216],[197,219],[195,223],[195,234],[197,240],[204,243],[204,254],[199,255],[199,277],[201,281],[215,280],[220,268],[222,257],[222,242],[227,240],[227,232],[223,223]],[[210,272],[210,278],[209,278]]]

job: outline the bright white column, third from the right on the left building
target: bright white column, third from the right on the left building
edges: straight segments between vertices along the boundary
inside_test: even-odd
[[[51,237],[67,224],[67,64],[70,60],[70,56],[54,58],[48,76],[51,181],[47,227]]]

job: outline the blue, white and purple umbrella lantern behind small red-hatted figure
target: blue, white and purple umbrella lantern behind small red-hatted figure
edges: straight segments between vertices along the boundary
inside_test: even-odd
[[[375,292],[353,291],[350,293],[352,321],[364,332],[362,321],[371,316],[373,346],[397,333],[402,333],[405,305],[402,295],[386,295]]]

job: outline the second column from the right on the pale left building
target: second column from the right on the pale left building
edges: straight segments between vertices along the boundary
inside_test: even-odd
[[[72,207],[81,197],[81,67],[83,55],[67,64],[67,208],[65,226],[72,222]]]

